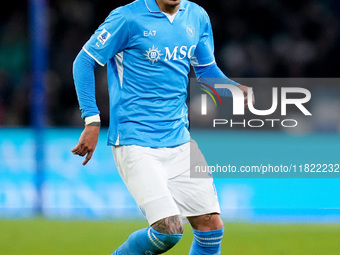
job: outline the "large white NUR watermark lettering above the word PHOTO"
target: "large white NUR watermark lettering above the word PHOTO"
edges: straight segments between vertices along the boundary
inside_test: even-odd
[[[233,115],[244,115],[244,95],[243,92],[234,85],[227,84],[216,84],[215,90],[219,89],[228,89],[230,90],[233,97]],[[303,95],[302,98],[289,98],[288,94],[295,93]],[[248,87],[248,108],[249,111],[258,116],[268,116],[274,113],[278,107],[278,88],[272,89],[272,105],[267,110],[258,110],[255,109],[252,100],[253,88]],[[304,115],[311,116],[312,114],[306,109],[304,106],[305,103],[309,102],[311,99],[311,93],[309,90],[304,88],[290,88],[284,87],[281,88],[281,115],[287,115],[287,105],[295,105]],[[206,95],[202,95],[202,108],[201,114],[207,114],[207,104],[206,104]]]

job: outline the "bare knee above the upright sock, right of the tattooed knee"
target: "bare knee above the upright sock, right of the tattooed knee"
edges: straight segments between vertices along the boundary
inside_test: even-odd
[[[224,227],[223,221],[217,213],[188,218],[191,226],[199,231],[218,230]]]

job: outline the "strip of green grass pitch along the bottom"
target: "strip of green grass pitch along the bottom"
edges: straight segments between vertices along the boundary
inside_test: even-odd
[[[1,255],[110,255],[145,222],[0,221]],[[189,225],[166,254],[188,254]],[[222,254],[339,255],[340,225],[226,223]]]

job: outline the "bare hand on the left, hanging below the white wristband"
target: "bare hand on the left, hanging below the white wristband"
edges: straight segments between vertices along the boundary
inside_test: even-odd
[[[83,166],[92,158],[93,152],[96,149],[99,137],[100,127],[98,126],[85,126],[84,131],[81,133],[78,144],[71,151],[74,155],[84,157]]]

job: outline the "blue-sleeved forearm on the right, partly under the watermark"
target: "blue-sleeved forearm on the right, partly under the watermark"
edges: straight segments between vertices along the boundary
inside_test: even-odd
[[[231,84],[240,85],[239,83],[229,79],[216,63],[204,67],[194,67],[197,79],[201,83],[208,84],[215,87],[215,84]],[[231,96],[231,92],[228,89],[216,89],[217,93],[221,96]]]

